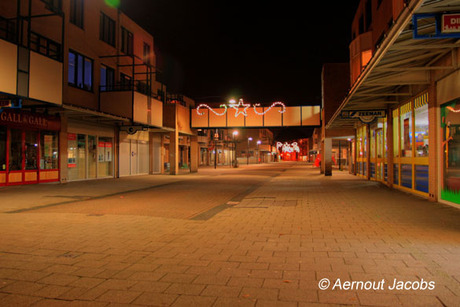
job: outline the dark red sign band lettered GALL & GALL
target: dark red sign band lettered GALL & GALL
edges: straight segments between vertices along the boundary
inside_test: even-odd
[[[3,112],[0,113],[0,124],[53,131],[59,131],[61,129],[61,122],[57,117],[23,111],[13,111],[10,109],[3,110]]]

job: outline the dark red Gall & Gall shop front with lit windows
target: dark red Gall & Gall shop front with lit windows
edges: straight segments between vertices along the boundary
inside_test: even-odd
[[[59,181],[59,117],[0,113],[0,185]]]

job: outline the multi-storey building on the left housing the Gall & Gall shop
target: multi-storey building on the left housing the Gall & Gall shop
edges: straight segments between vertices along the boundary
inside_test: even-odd
[[[152,35],[107,3],[0,3],[0,185],[193,165],[184,148],[196,137],[182,120],[193,101],[165,107],[175,100],[156,81]]]

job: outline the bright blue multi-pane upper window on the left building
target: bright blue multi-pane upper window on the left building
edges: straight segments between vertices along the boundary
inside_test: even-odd
[[[69,51],[70,85],[87,90],[93,90],[93,60],[74,51]]]

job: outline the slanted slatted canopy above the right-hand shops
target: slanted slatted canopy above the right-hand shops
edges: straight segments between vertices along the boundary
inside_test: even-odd
[[[455,70],[454,49],[460,47],[458,38],[414,39],[412,33],[414,14],[446,11],[460,11],[459,1],[410,1],[326,128],[354,128],[357,120],[341,118],[342,111],[387,109],[417,94],[412,91],[412,86],[428,86],[431,71]],[[420,31],[431,33],[435,24],[427,20],[418,27]],[[452,57],[450,64],[437,64],[449,54]]]

